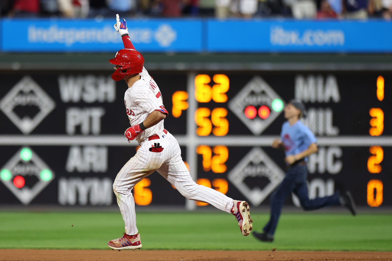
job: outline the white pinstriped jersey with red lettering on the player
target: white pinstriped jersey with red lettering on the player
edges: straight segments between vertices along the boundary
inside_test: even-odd
[[[136,81],[125,92],[124,103],[131,126],[142,123],[154,110],[159,110],[167,115],[158,85],[144,67],[142,73],[140,73],[140,80]],[[136,136],[136,140],[145,140],[162,132],[163,120],[140,133]]]

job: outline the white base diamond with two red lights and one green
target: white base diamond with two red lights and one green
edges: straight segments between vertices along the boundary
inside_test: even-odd
[[[245,108],[249,105],[267,105],[271,108],[272,101],[282,98],[260,76],[253,77],[249,83],[229,102],[230,110],[249,128],[254,135],[260,135],[282,111],[270,110],[267,119],[245,116]],[[283,100],[282,100],[283,101]],[[283,102],[284,104],[284,102]]]

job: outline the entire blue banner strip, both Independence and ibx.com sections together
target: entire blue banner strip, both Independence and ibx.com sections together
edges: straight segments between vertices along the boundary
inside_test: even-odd
[[[116,52],[113,20],[3,19],[2,52]],[[146,19],[127,21],[140,52],[392,52],[385,20]]]

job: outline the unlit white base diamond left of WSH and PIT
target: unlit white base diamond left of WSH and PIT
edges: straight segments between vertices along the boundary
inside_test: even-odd
[[[36,106],[39,112],[31,118],[15,113],[17,106]],[[53,99],[30,77],[23,77],[0,101],[0,109],[24,134],[29,134],[54,109]]]

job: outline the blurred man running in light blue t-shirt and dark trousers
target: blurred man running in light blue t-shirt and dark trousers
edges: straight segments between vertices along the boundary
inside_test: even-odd
[[[274,140],[272,148],[283,149],[286,154],[287,164],[286,176],[282,183],[271,194],[270,206],[271,217],[263,232],[253,232],[253,235],[261,241],[273,241],[276,225],[283,202],[287,195],[294,192],[304,210],[319,209],[321,207],[343,205],[347,207],[353,215],[356,214],[354,200],[349,191],[340,196],[336,191],[332,196],[309,199],[307,187],[307,157],[315,153],[318,148],[316,137],[299,119],[305,112],[303,103],[292,100],[285,107],[284,113],[286,122],[282,125],[280,133],[281,140]]]

